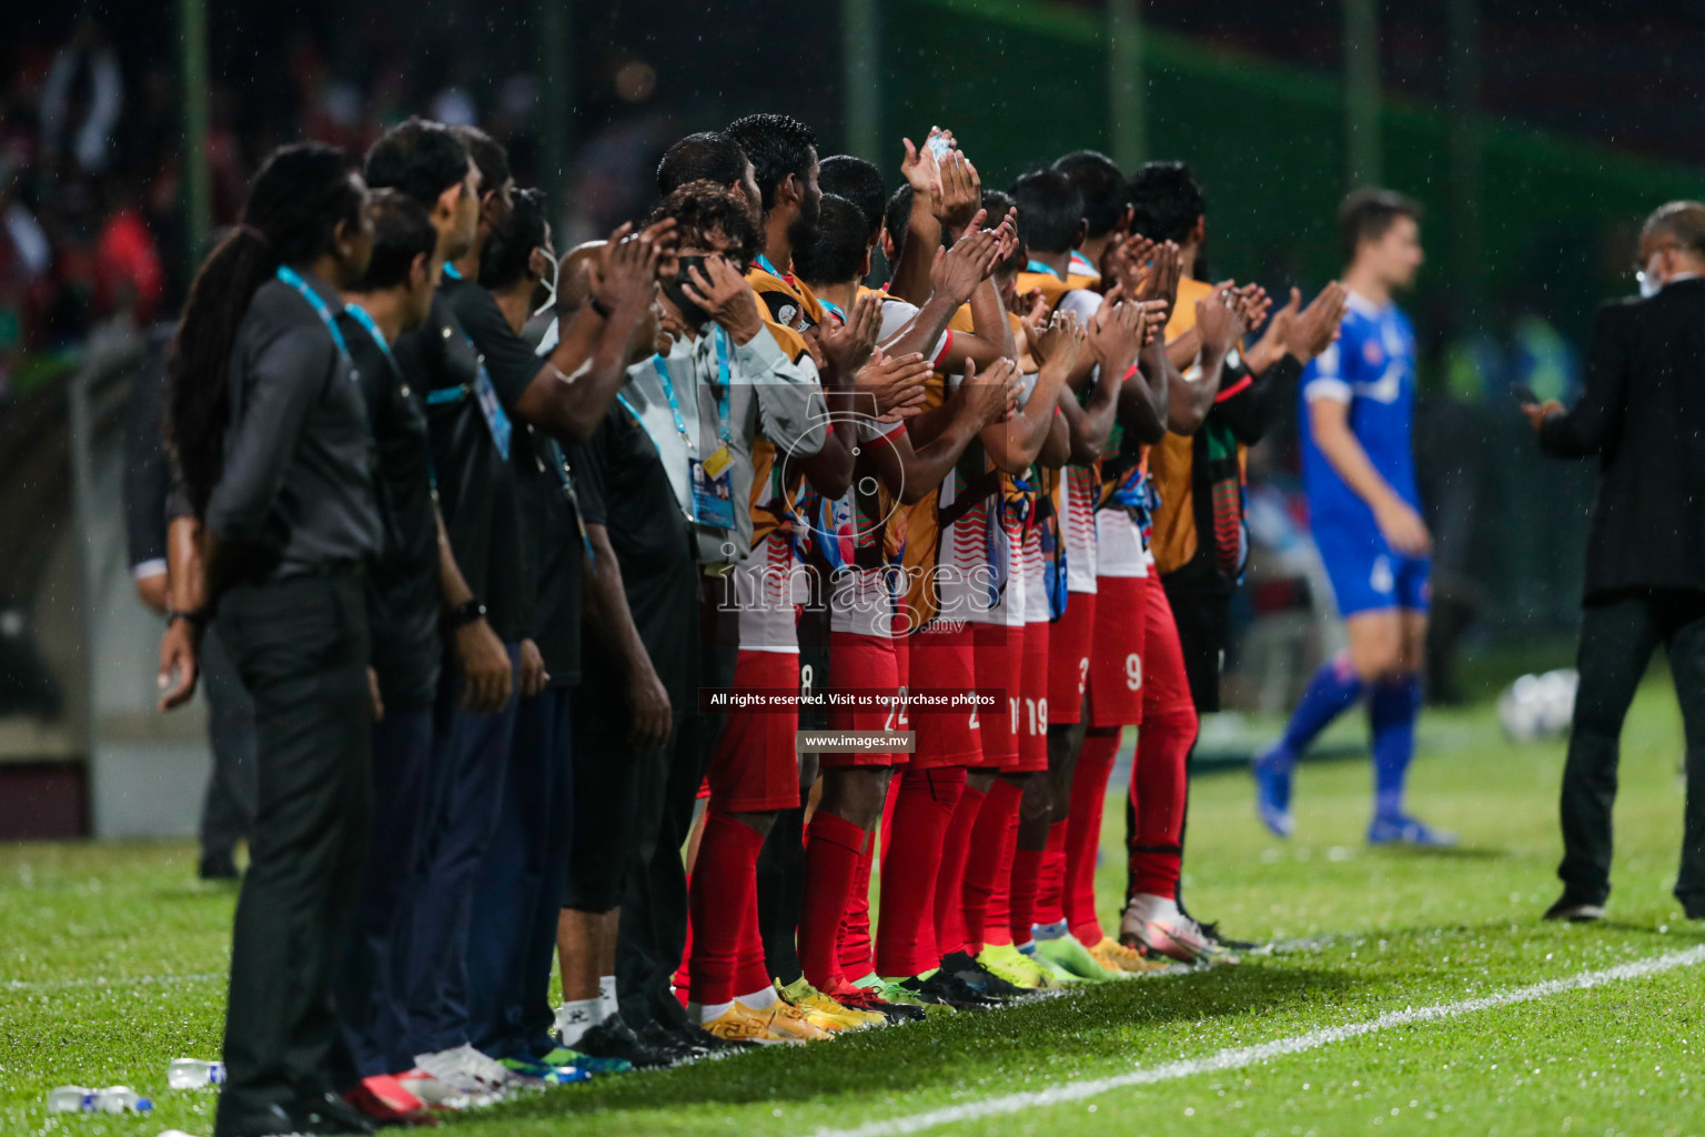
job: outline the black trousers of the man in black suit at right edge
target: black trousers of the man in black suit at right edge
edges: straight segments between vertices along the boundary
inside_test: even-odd
[[[1581,617],[1581,689],[1563,767],[1563,863],[1570,900],[1610,897],[1611,806],[1621,724],[1645,665],[1662,644],[1686,733],[1686,818],[1676,898],[1705,917],[1705,592],[1637,590],[1589,600]]]

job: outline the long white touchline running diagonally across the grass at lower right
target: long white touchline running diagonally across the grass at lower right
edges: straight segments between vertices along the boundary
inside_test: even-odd
[[[1110,1089],[1122,1089],[1124,1086],[1151,1086],[1154,1082],[1192,1077],[1195,1074],[1207,1074],[1212,1071],[1236,1071],[1269,1059],[1301,1053],[1303,1050],[1316,1050],[1335,1042],[1361,1038],[1362,1035],[1373,1035],[1393,1026],[1408,1026],[1410,1023],[1437,1023],[1441,1019],[1473,1014],[1475,1011],[1507,1007],[1516,1002],[1533,1002],[1534,999],[1546,999],[1570,990],[1586,990],[1587,987],[1615,984],[1625,978],[1645,978],[1647,975],[1657,975],[1661,972],[1671,972],[1678,967],[1691,967],[1695,963],[1705,963],[1705,946],[1690,948],[1686,951],[1671,951],[1667,955],[1652,956],[1650,960],[1635,960],[1633,963],[1608,967],[1601,972],[1582,972],[1581,975],[1572,975],[1569,978],[1552,978],[1543,984],[1516,987],[1514,990],[1480,999],[1463,999],[1461,1002],[1441,1002],[1430,1007],[1390,1011],[1379,1018],[1367,1019],[1366,1023],[1326,1026],[1323,1030],[1308,1031],[1306,1035],[1263,1042],[1255,1047],[1233,1047],[1211,1053],[1204,1059],[1185,1059],[1180,1062],[1166,1062],[1163,1065],[1139,1067],[1129,1074],[1117,1074],[1113,1077],[1061,1082],[1049,1089],[1030,1089],[1025,1093],[987,1098],[984,1101],[972,1101],[968,1105],[929,1110],[928,1113],[914,1113],[910,1117],[897,1117],[885,1122],[870,1122],[868,1125],[859,1125],[858,1128],[817,1128],[812,1130],[812,1137],[895,1137],[899,1134],[921,1134],[928,1128],[936,1128],[938,1125],[974,1122],[984,1117],[1021,1113],[1037,1106],[1095,1098]]]

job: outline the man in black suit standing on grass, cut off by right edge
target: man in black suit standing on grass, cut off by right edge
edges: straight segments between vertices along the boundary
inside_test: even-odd
[[[1546,919],[1604,915],[1621,721],[1659,644],[1686,733],[1676,898],[1705,919],[1705,205],[1671,201],[1645,218],[1639,271],[1640,300],[1599,309],[1581,402],[1523,407],[1546,453],[1599,459],[1563,767],[1563,895]]]

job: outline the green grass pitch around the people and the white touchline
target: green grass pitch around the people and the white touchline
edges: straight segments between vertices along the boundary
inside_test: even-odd
[[[1344,728],[1364,730],[1364,719]],[[1195,786],[1187,895],[1228,932],[1292,943],[997,1014],[955,1016],[525,1096],[450,1122],[471,1135],[803,1137],[970,1110],[1008,1094],[1495,996],[1705,944],[1669,897],[1681,830],[1674,701],[1647,685],[1625,738],[1611,919],[1557,927],[1562,743],[1502,740],[1488,707],[1424,719],[1415,811],[1449,854],[1369,851],[1366,762],[1304,767],[1298,837],[1270,840],[1250,782]],[[1117,801],[1101,869],[1124,873]],[[177,1055],[218,1053],[234,892],[193,880],[189,844],[0,847],[0,1134],[211,1132],[213,1096],[165,1089]],[[946,1113],[919,1132],[1705,1134],[1705,965],[1419,1021],[1096,1096]],[[123,1082],[148,1118],[51,1117],[58,1084]]]

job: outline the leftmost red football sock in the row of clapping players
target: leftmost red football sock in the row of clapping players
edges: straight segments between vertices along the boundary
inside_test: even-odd
[[[721,810],[713,811],[704,823],[689,905],[694,929],[694,1002],[730,1002],[735,996],[764,985],[735,990],[742,982],[750,982],[750,975],[743,973],[750,955],[748,939],[759,943],[759,972],[764,970],[764,948],[757,934],[757,854],[762,847],[762,834]]]

